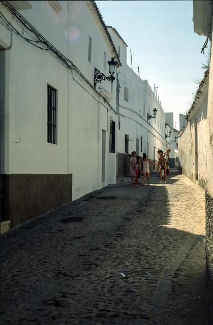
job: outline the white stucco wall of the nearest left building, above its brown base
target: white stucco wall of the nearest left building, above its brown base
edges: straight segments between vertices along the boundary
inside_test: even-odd
[[[66,16],[67,2],[62,3],[58,21],[46,2],[34,2],[33,9],[21,14],[70,57],[93,84],[95,66],[103,72],[104,51],[107,60],[113,53],[85,2],[76,4],[76,8],[80,8],[77,12],[68,11],[75,26],[81,26],[81,37],[76,43],[75,40],[69,42],[66,28],[70,26],[72,30],[72,25]],[[1,10],[21,32],[9,10],[3,5]],[[5,27],[1,25],[1,28],[8,34]],[[25,35],[25,31],[23,33]],[[88,35],[93,38],[91,63],[87,58]],[[97,50],[103,57],[101,54],[95,57]],[[15,34],[12,47],[5,54],[9,62],[6,66],[5,174],[73,174],[73,200],[114,183],[116,152],[109,153],[109,125],[113,119],[117,127],[117,116],[109,105],[76,72],[72,73],[52,54]],[[56,145],[47,143],[47,84],[57,89]],[[111,91],[109,81],[102,82],[101,86]],[[115,83],[113,87],[115,89]],[[115,109],[115,96],[110,104]],[[102,129],[106,131],[105,182],[102,182]]]

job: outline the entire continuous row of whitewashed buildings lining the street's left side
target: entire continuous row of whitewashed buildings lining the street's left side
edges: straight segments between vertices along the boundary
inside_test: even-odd
[[[127,152],[157,160],[165,112],[94,1],[2,2],[0,22],[5,229],[115,183],[129,173]]]

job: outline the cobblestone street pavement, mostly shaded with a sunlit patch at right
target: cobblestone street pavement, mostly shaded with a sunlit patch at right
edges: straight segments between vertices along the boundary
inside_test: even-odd
[[[2,235],[1,324],[205,325],[204,190],[151,183],[119,179]]]

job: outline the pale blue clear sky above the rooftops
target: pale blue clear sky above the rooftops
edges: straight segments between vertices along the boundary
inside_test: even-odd
[[[205,42],[193,30],[192,1],[96,1],[106,25],[113,26],[127,43],[127,63],[140,78],[147,79],[165,112],[174,112],[174,127],[179,128],[179,113],[186,113],[202,79]]]

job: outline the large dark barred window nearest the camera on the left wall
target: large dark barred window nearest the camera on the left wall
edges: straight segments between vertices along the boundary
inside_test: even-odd
[[[47,85],[47,142],[57,143],[57,90]]]

